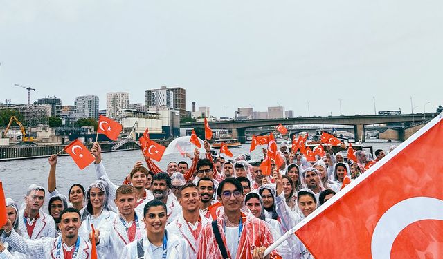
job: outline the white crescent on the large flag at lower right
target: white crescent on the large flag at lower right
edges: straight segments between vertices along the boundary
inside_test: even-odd
[[[372,233],[372,258],[390,258],[392,245],[403,229],[420,220],[443,220],[442,208],[443,200],[431,197],[409,198],[390,207]]]

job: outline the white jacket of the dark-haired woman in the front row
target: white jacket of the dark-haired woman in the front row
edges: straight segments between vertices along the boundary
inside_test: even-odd
[[[166,247],[166,259],[191,259],[189,257],[189,251],[188,251],[188,244],[186,244],[186,241],[182,238],[179,238],[178,236],[167,233],[168,237],[168,244]],[[121,258],[122,259],[132,259],[132,258],[138,258],[137,256],[137,242],[138,240],[134,240],[134,242],[130,242],[123,248],[123,253]],[[159,258],[153,258],[152,255],[152,248],[149,240],[147,240],[146,233],[143,235],[143,249],[145,251],[145,259],[159,259]],[[194,259],[194,258],[192,258]]]

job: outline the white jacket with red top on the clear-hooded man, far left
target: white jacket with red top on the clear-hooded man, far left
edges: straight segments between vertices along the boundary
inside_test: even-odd
[[[24,212],[19,211],[19,229],[24,238],[35,240],[39,238],[55,238],[57,231],[55,230],[55,222],[53,218],[39,211],[37,218],[30,220]]]

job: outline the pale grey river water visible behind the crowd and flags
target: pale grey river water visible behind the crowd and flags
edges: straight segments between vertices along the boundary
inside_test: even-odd
[[[372,146],[373,151],[383,149],[389,151],[390,146],[398,145],[399,142],[370,142],[363,146]],[[244,153],[249,153],[250,144],[243,144],[239,148],[232,148],[230,151],[234,157]],[[386,152],[387,153],[387,152]],[[260,147],[251,153],[252,160],[260,160],[263,154]],[[203,155],[201,155],[203,157]],[[119,151],[103,153],[102,160],[111,181],[121,184],[125,176],[131,171],[137,161],[142,159],[141,151]],[[161,169],[166,168],[170,161],[179,162],[185,160],[190,164],[190,160],[183,159],[179,154],[167,155],[161,162],[157,163]],[[20,206],[26,190],[30,184],[37,184],[47,188],[49,164],[47,158],[37,158],[28,160],[13,160],[0,162],[0,181],[3,182],[3,189],[6,198],[12,198]],[[58,157],[57,162],[57,189],[67,195],[69,187],[74,183],[79,183],[87,188],[91,182],[96,180],[93,164],[86,169],[80,170],[69,156]],[[46,209],[45,209],[46,211]]]

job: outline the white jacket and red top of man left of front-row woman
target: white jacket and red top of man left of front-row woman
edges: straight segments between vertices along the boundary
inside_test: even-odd
[[[123,251],[123,247],[138,240],[145,232],[145,223],[143,217],[137,216],[137,220],[126,222],[126,220],[117,215],[111,224],[108,224],[107,229],[100,232],[100,244],[97,250],[105,250],[107,252],[106,258],[119,259]]]

